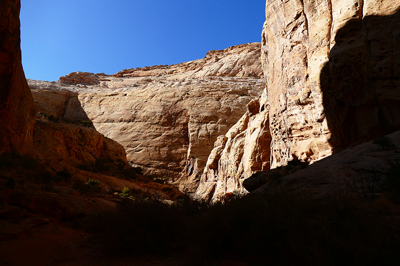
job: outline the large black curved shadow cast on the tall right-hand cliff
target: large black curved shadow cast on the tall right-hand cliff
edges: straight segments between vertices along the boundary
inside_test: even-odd
[[[333,152],[400,130],[400,9],[351,19],[320,73]]]

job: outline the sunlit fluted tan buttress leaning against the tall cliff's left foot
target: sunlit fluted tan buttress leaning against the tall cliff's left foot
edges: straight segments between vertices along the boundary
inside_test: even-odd
[[[244,194],[243,180],[269,169],[268,110],[259,111],[259,102],[247,104],[247,112],[223,136],[219,136],[208,157],[195,196],[221,200],[228,193]]]

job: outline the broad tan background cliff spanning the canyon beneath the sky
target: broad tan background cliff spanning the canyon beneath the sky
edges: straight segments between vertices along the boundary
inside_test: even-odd
[[[132,165],[179,180],[181,190],[194,192],[217,136],[265,87],[260,48],[241,44],[171,66],[28,82],[34,99],[59,117],[91,120],[125,148]]]

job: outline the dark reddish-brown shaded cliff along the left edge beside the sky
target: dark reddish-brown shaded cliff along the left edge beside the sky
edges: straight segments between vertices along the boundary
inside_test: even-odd
[[[35,107],[22,70],[19,0],[0,1],[0,154],[32,152]]]

